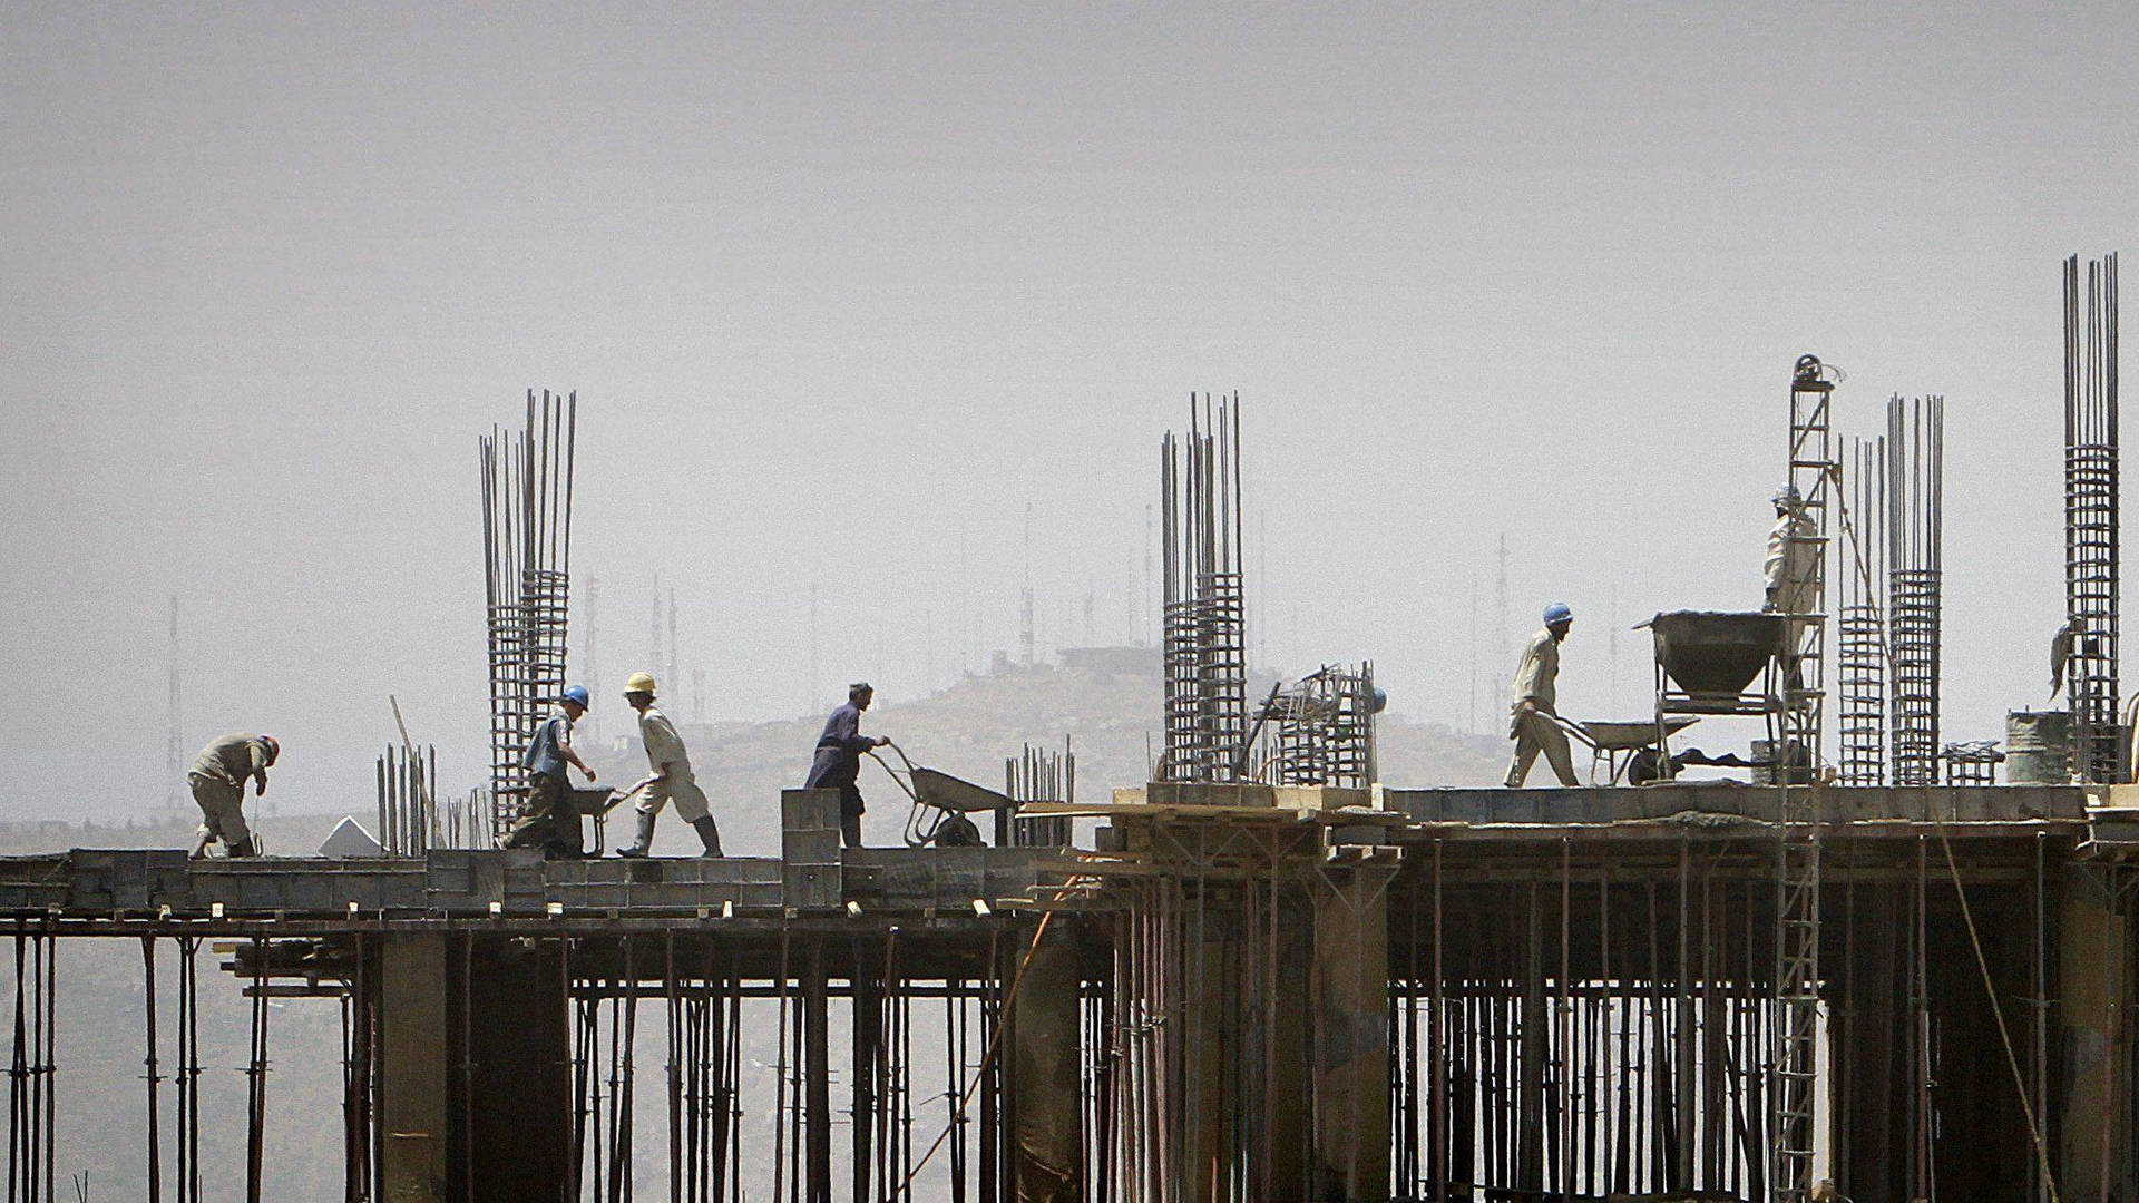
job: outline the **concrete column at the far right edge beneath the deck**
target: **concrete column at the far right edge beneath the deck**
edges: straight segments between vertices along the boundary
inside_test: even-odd
[[[2113,869],[2075,867],[2058,914],[2058,1192],[2068,1201],[2133,1197],[2133,920],[2115,905],[2120,884]]]

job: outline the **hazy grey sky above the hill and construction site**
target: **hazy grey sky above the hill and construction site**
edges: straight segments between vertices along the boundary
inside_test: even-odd
[[[1463,724],[1499,533],[1576,715],[1613,597],[1758,604],[1814,351],[1846,430],[1946,396],[1946,736],[1994,736],[2135,51],[2130,4],[9,6],[0,813],[163,801],[173,593],[188,745],[368,805],[396,691],[473,783],[475,437],[528,385],[580,392],[610,683],[657,569],[714,717],[806,706],[811,582],[821,694],[924,689],[930,627],[943,683],[1016,644],[1027,503],[1044,642],[1087,593],[1121,640],[1157,437],[1238,390],[1251,638]]]

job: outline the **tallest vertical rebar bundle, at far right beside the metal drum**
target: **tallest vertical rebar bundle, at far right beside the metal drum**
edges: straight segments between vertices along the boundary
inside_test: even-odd
[[[2064,261],[2064,608],[2073,775],[2118,773],[2118,257]]]

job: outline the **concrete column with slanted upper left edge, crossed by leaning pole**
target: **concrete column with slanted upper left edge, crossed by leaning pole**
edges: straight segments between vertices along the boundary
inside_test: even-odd
[[[1018,1203],[1082,1199],[1078,963],[1065,920],[1048,925],[1010,1008],[1010,1175]]]

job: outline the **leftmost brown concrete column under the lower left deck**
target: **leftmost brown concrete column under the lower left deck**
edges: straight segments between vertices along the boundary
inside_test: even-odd
[[[445,935],[379,938],[379,1192],[445,1203],[451,1137]]]

